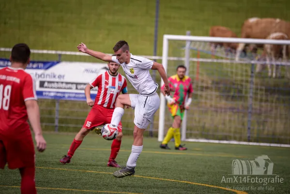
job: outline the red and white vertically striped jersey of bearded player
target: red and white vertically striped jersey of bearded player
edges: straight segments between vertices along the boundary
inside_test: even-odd
[[[90,85],[98,87],[94,105],[101,105],[105,108],[114,109],[116,99],[121,91],[122,93],[127,93],[127,81],[120,73],[112,76],[106,71],[92,80]]]

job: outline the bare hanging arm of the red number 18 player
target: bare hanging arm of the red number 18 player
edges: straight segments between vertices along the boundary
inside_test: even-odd
[[[28,119],[34,132],[37,150],[43,152],[46,149],[46,140],[42,135],[42,130],[40,126],[39,106],[37,104],[37,101],[34,99],[26,100],[25,106],[28,114]]]

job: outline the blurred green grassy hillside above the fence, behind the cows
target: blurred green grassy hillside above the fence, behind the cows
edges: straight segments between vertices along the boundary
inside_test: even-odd
[[[248,17],[290,20],[288,7],[288,0],[160,0],[158,55],[163,34],[208,35],[212,25],[239,34]],[[0,47],[76,51],[84,42],[110,53],[125,39],[134,54],[153,54],[155,0],[11,0],[0,9]]]

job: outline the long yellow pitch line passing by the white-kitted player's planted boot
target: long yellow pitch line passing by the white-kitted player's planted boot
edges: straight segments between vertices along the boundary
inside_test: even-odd
[[[50,167],[40,167],[40,166],[36,166],[35,168],[51,169],[51,170],[79,171],[79,172],[89,172],[89,173],[113,174],[113,173],[108,173],[108,172],[98,172],[98,171],[91,171],[91,170],[66,169],[66,168],[50,168]],[[226,190],[226,191],[235,192],[236,194],[247,194],[247,193],[245,193],[243,191],[238,191],[238,190],[234,190],[234,189],[228,189],[228,188],[225,188],[225,187],[219,187],[219,186],[214,186],[214,185],[208,185],[208,184],[202,184],[202,183],[196,183],[196,182],[189,182],[189,181],[183,181],[183,180],[174,180],[174,179],[167,179],[167,178],[144,177],[144,176],[138,176],[138,175],[134,175],[134,177],[138,177],[138,178],[150,178],[150,179],[155,179],[155,180],[167,180],[167,181],[172,181],[172,182],[188,183],[188,184],[193,184],[193,185],[200,185],[200,186],[206,186],[206,187],[223,189],[223,190]]]

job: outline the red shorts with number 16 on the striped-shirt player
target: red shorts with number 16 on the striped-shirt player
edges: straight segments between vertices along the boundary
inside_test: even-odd
[[[88,114],[83,128],[93,129],[95,127],[110,124],[113,116],[114,109],[107,109],[103,106],[93,106]],[[118,125],[118,131],[122,131],[122,122]]]

